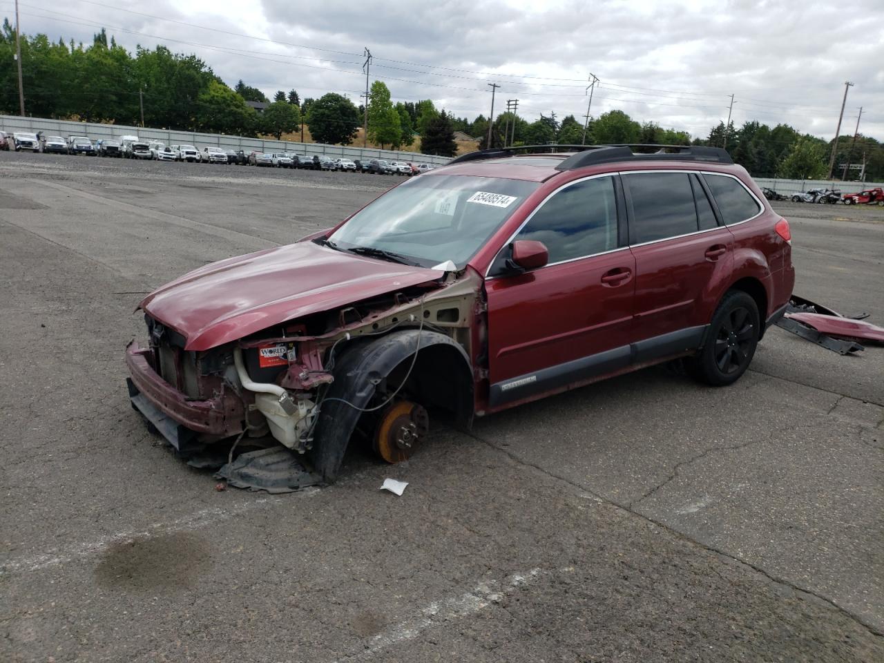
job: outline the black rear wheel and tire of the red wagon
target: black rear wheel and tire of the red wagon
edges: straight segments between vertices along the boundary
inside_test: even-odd
[[[705,345],[685,362],[691,377],[706,385],[733,385],[749,368],[758,347],[758,306],[741,290],[730,290],[715,309]]]

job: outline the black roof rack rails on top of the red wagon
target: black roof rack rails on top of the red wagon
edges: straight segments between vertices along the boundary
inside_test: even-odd
[[[634,152],[633,149],[655,149],[654,152]],[[556,166],[560,171],[573,171],[576,168],[594,164],[610,164],[616,161],[706,161],[717,164],[733,164],[727,151],[721,148],[706,148],[701,145],[657,145],[644,143],[620,143],[613,145],[519,145],[511,148],[480,149],[458,156],[446,165],[463,164],[479,159],[493,159],[499,156],[516,156],[519,152],[533,154],[576,152],[563,159]]]

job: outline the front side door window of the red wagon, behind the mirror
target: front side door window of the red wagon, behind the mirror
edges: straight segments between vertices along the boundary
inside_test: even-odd
[[[617,248],[613,178],[584,179],[553,194],[514,240],[542,241],[550,264]]]

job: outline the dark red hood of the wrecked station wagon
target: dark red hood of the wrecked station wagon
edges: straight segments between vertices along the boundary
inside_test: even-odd
[[[208,350],[274,324],[442,278],[438,270],[343,253],[312,241],[211,263],[139,305]]]

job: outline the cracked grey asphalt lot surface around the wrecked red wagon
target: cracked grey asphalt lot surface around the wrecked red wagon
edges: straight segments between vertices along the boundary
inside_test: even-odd
[[[882,347],[774,328],[732,387],[643,370],[287,495],[151,435],[141,297],[398,181],[0,152],[0,660],[884,660]],[[884,210],[777,210],[796,293],[884,324]]]

